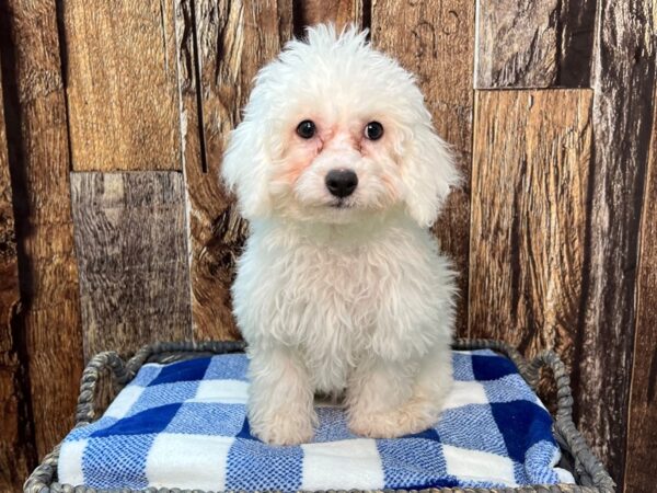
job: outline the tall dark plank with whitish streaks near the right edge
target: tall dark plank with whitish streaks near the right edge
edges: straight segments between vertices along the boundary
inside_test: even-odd
[[[619,484],[635,323],[641,199],[650,139],[654,1],[599,2],[588,251],[573,385],[578,425]],[[580,349],[579,349],[580,348]]]

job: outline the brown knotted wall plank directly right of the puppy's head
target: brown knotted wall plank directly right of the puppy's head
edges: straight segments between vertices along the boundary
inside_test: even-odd
[[[371,25],[373,45],[417,76],[438,134],[459,156],[464,185],[452,192],[434,231],[460,273],[457,332],[462,335],[468,324],[474,2],[373,0]]]

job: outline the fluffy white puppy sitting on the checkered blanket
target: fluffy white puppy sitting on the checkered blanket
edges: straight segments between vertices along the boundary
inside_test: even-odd
[[[257,74],[222,168],[251,223],[232,288],[251,429],[310,440],[322,393],[356,434],[420,432],[452,381],[454,274],[427,228],[459,174],[413,77],[365,33],[307,37]]]

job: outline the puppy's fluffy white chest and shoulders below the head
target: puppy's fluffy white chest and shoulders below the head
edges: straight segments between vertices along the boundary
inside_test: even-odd
[[[413,337],[399,333],[406,305],[439,298],[437,259],[424,232],[390,231],[345,245],[254,231],[233,286],[235,313],[251,345],[292,348],[315,390],[339,392],[372,347],[404,351],[393,341]]]

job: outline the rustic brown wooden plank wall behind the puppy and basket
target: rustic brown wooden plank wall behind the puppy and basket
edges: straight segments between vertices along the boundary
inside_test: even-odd
[[[224,137],[325,20],[413,70],[460,153],[435,228],[459,335],[558,351],[619,485],[655,491],[657,0],[1,1],[0,490],[71,426],[94,353],[238,336]]]

